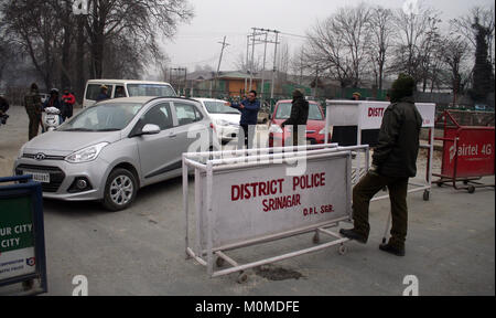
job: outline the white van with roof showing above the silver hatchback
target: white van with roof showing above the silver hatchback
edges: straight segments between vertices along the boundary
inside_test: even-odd
[[[108,87],[110,98],[122,97],[176,97],[171,84],[164,82],[131,81],[131,80],[89,80],[86,83],[83,108],[95,105],[101,92],[101,85]]]

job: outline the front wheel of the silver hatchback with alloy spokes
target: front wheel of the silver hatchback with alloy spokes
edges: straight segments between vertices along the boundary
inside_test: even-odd
[[[136,199],[138,183],[126,169],[114,170],[105,186],[104,206],[112,212],[128,209]]]

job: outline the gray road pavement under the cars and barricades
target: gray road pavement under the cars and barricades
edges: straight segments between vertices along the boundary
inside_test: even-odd
[[[19,148],[26,141],[22,107],[11,107],[8,126],[0,127],[0,176],[8,176]],[[494,182],[494,177],[487,178]],[[193,204],[193,198],[191,198]],[[433,188],[431,200],[409,195],[407,256],[378,250],[389,211],[388,201],[370,206],[367,245],[336,248],[277,263],[274,275],[292,271],[299,279],[271,280],[249,271],[208,278],[204,267],[185,259],[182,180],[174,179],[139,192],[127,211],[109,213],[98,203],[45,201],[47,295],[69,296],[75,275],[88,278],[89,295],[402,295],[403,278],[416,275],[420,295],[495,295],[495,192],[474,194],[449,187]],[[251,262],[292,248],[309,247],[312,235],[229,253]],[[273,277],[273,275],[272,275]],[[0,295],[7,289],[0,288]]]

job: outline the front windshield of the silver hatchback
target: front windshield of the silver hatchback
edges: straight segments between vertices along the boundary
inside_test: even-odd
[[[58,131],[118,131],[126,128],[141,109],[142,104],[99,104],[86,108],[62,125]]]

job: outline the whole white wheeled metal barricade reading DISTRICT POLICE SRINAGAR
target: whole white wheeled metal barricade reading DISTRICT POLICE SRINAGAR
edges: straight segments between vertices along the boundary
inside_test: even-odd
[[[281,152],[284,151],[284,152]],[[331,231],[352,220],[353,152],[368,146],[315,145],[273,149],[183,155],[186,255],[207,267],[212,277],[240,273],[290,257],[339,245],[348,240]],[[359,163],[358,163],[359,165]],[[368,165],[368,162],[366,162]],[[190,240],[188,173],[195,171],[194,246]],[[239,264],[226,252],[313,233],[310,248]],[[320,244],[320,235],[334,241]],[[214,261],[216,258],[216,261]],[[214,264],[228,263],[216,271]]]

